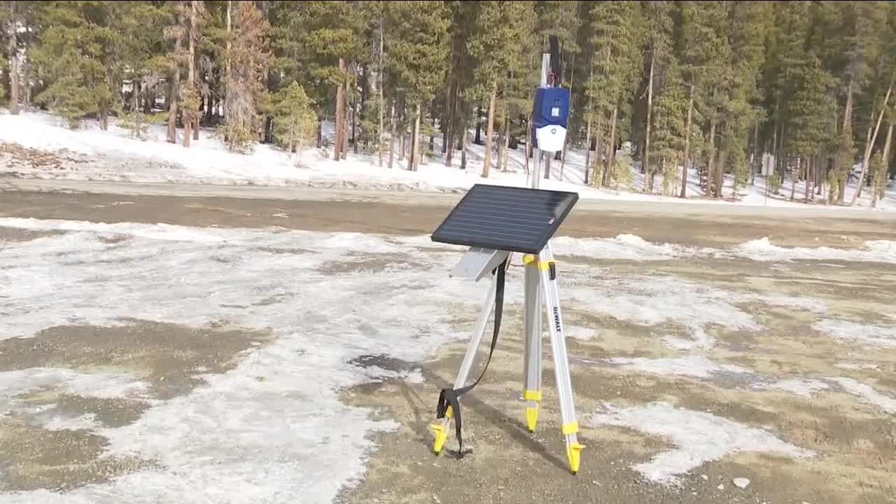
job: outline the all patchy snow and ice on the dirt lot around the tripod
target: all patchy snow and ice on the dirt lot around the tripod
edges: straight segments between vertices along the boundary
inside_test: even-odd
[[[139,369],[0,372],[0,414],[24,416],[45,430],[89,431],[108,439],[104,458],[136,456],[158,463],[65,493],[0,494],[4,504],[331,502],[343,485],[364,474],[375,448],[370,434],[397,427],[373,419],[366,408],[344,404],[340,392],[383,378],[422,382],[418,362],[467,335],[456,330],[456,317],[474,317],[484,293],[484,285],[446,280],[460,248],[427,237],[13,218],[0,219],[0,228],[59,233],[0,241],[0,340],[35,337],[60,325],[123,327],[135,319],[268,329],[274,335],[270,343],[243,352],[234,369],[220,374],[195,369],[205,385],[168,400],[151,395]],[[564,239],[556,252],[630,261],[646,250],[660,260],[704,256],[756,265],[739,252],[742,248],[673,248],[630,235]],[[810,250],[774,260],[827,254]],[[838,260],[868,260],[861,249],[839,253]],[[881,256],[874,262],[892,261],[896,258]],[[512,268],[510,275],[506,302],[518,308],[519,270]],[[563,278],[571,335],[604,341],[601,327],[575,316],[602,314],[644,327],[662,352],[674,355],[611,357],[601,363],[607,368],[710,383],[731,378],[755,393],[797,398],[844,392],[875,412],[896,411],[892,392],[857,378],[766,377],[746,363],[715,361],[709,353],[719,346],[710,335],[719,328],[762,331],[762,319],[744,303],[821,317],[817,329],[838,344],[892,346],[892,325],[840,321],[813,298],[735,292],[649,271],[564,263]],[[664,326],[684,326],[691,334],[662,334]],[[407,366],[358,364],[365,359]],[[22,399],[48,388],[141,398],[150,407],[133,423],[109,426],[94,415],[60,416]],[[586,412],[583,420],[590,428],[622,426],[668,439],[673,448],[632,466],[651,482],[675,483],[700,465],[743,452],[816,455],[801,446],[805,439],[667,403],[606,404]]]

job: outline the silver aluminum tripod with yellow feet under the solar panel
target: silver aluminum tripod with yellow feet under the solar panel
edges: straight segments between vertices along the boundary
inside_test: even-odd
[[[543,363],[541,352],[541,314],[547,313],[547,327],[554,356],[557,394],[560,398],[560,417],[563,421],[561,431],[566,443],[566,457],[570,470],[573,474],[577,474],[580,455],[584,446],[579,443],[577,437],[579,422],[576,421],[575,405],[573,404],[573,385],[570,380],[569,362],[566,357],[563,316],[560,310],[560,295],[556,281],[556,262],[554,261],[550,243],[548,242],[538,255],[524,255],[522,261],[527,270],[525,284],[526,302],[524,306],[525,376],[523,383],[523,399],[527,403],[526,423],[530,432],[534,432],[538,424],[538,404],[541,402],[541,370]],[[500,287],[503,291],[503,272],[500,272],[500,274],[502,275]],[[457,373],[457,378],[454,379],[455,390],[462,389],[470,376],[470,369],[476,358],[479,343],[482,342],[482,336],[485,334],[488,318],[495,308],[495,294],[498,291],[498,283],[499,275],[492,274],[491,285],[487,291],[482,311],[479,313],[476,328],[470,338],[467,352],[464,354],[461,369]],[[542,307],[538,306],[540,300],[544,300]],[[542,308],[545,311],[542,311]],[[498,314],[495,315],[495,323],[498,324]],[[494,350],[494,341],[492,350]],[[453,414],[452,407],[448,406],[441,421],[431,426],[431,430],[435,434],[433,451],[436,455],[442,451],[445,441],[448,439],[448,426],[453,418]],[[458,429],[460,430],[460,427]]]

